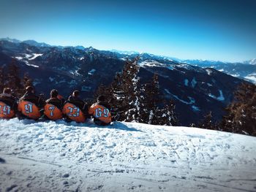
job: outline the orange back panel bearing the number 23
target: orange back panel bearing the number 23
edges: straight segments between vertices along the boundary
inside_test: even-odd
[[[86,122],[86,117],[83,114],[83,112],[79,109],[79,107],[76,107],[75,104],[64,104],[63,110],[64,115],[67,115],[67,118],[70,120],[74,120],[77,123],[84,123]]]

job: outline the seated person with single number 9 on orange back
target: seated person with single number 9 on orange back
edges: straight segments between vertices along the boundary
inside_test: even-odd
[[[45,100],[40,96],[36,96],[32,86],[26,87],[26,93],[20,98],[18,104],[18,111],[20,111],[18,118],[31,118],[37,120],[43,114],[43,107]]]

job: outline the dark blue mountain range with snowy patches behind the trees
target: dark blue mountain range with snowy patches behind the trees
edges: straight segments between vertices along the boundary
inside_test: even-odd
[[[0,66],[7,67],[15,59],[20,74],[28,72],[37,91],[46,97],[51,89],[57,88],[65,97],[78,89],[84,99],[92,99],[100,84],[109,85],[125,61],[137,56],[140,56],[140,82],[150,82],[158,74],[162,96],[175,101],[178,118],[184,126],[198,122],[209,111],[213,112],[214,120],[220,120],[238,85],[245,80],[253,82],[256,75],[254,61],[243,64],[181,61],[148,53],[0,39]]]

